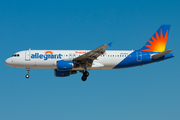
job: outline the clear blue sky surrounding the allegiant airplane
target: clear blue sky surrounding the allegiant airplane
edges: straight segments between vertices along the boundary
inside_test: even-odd
[[[1,120],[179,120],[180,1],[1,0]],[[57,78],[53,70],[11,68],[5,59],[35,49],[141,48],[170,24],[175,57],[142,67]]]

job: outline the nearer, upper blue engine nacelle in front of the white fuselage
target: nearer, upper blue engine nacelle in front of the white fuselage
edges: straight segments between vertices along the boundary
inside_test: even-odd
[[[72,61],[59,60],[57,61],[57,69],[59,71],[71,70],[73,68]]]

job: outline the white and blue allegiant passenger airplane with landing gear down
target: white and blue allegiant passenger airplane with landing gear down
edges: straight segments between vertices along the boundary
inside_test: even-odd
[[[138,50],[106,50],[109,44],[94,50],[25,50],[12,55],[5,64],[15,68],[54,69],[56,77],[67,77],[81,72],[82,81],[88,70],[120,69],[142,66],[174,57],[172,49],[165,50],[170,25],[162,25],[148,42]]]

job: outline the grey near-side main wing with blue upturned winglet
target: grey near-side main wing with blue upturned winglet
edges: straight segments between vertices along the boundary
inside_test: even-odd
[[[112,42],[109,44],[102,45],[94,50],[91,50],[75,59],[73,61],[75,64],[80,64],[83,66],[92,66],[93,60],[97,59],[100,55],[103,55],[105,50],[108,46],[111,46]]]

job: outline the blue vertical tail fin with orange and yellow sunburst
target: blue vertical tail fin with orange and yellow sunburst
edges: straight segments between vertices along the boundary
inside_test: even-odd
[[[170,25],[162,25],[140,50],[148,52],[163,52],[166,48],[169,30]]]

